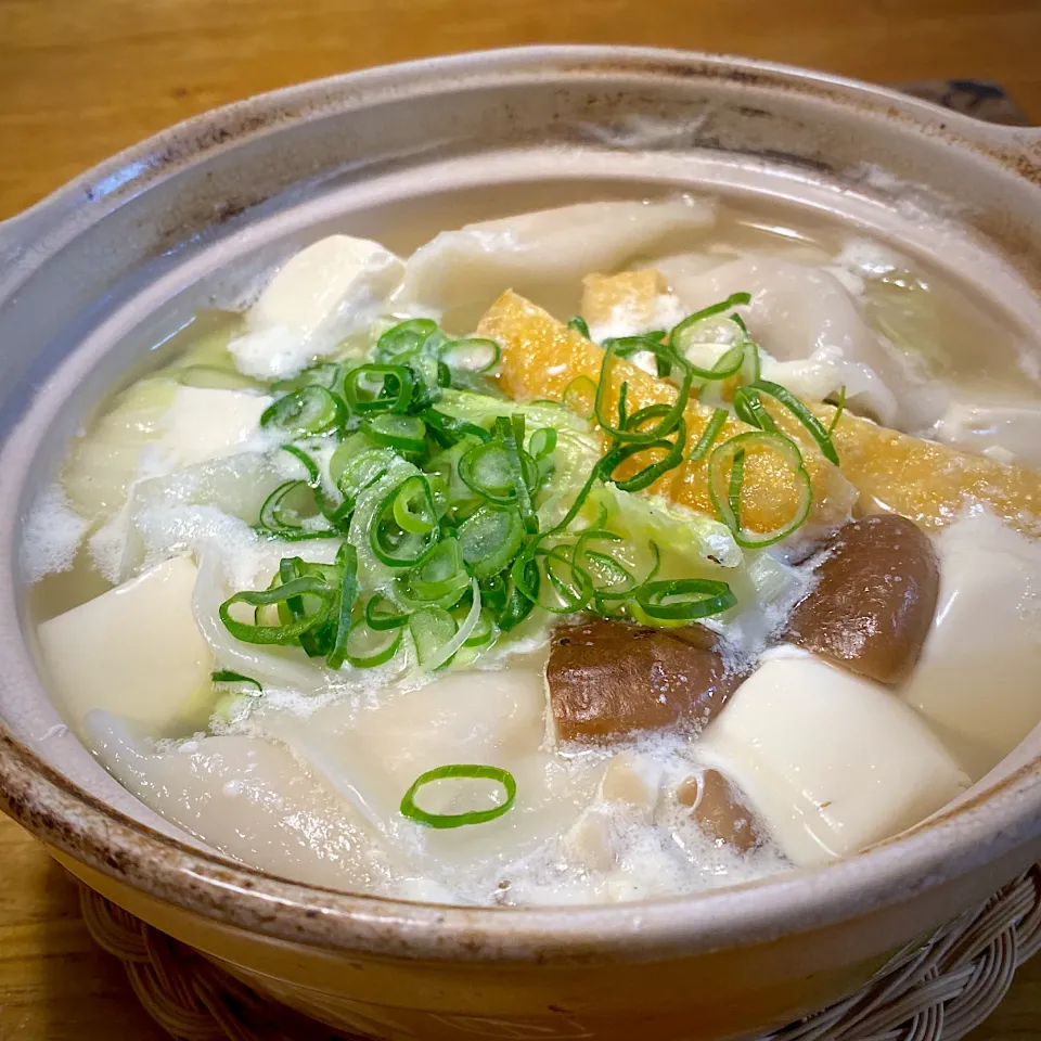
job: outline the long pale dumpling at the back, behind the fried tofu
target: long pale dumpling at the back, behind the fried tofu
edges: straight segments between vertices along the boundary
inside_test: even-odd
[[[506,285],[551,310],[574,311],[590,271],[689,242],[715,220],[712,204],[678,198],[584,203],[467,224],[412,255],[401,300],[439,310],[461,329],[472,329]]]

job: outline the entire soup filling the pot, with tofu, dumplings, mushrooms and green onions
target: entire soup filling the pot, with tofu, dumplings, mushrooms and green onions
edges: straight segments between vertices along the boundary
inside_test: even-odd
[[[177,344],[24,563],[69,725],[232,858],[695,891],[887,839],[1041,719],[1029,354],[887,247],[686,197],[332,235]]]

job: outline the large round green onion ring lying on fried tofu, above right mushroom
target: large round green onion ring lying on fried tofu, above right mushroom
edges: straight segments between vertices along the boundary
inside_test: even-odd
[[[780,455],[792,468],[798,502],[791,519],[772,531],[751,531],[742,526],[740,510],[731,506],[736,498],[740,502],[741,483],[744,480],[744,466],[750,452],[772,451]],[[738,459],[740,457],[740,459]],[[734,470],[740,470],[736,492],[733,488]],[[779,542],[796,531],[809,516],[813,504],[813,489],[810,475],[802,463],[802,453],[798,445],[784,434],[770,434],[762,430],[748,430],[723,441],[711,454],[708,463],[708,492],[720,520],[730,528],[734,541],[746,549],[759,549]]]

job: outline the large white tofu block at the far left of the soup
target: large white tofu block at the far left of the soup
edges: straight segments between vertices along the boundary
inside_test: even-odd
[[[60,707],[100,708],[162,737],[205,722],[214,661],[192,615],[195,565],[175,557],[40,625]]]

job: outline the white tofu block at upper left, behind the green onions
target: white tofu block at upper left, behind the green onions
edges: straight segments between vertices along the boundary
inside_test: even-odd
[[[292,257],[249,309],[247,332],[229,350],[241,372],[284,380],[331,354],[377,318],[404,264],[378,243],[320,239]]]

